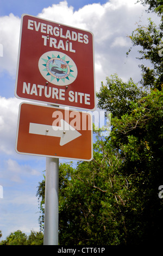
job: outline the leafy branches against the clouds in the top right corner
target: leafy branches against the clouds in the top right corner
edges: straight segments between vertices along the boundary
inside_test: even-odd
[[[154,10],[159,15],[163,10],[162,1],[141,0],[141,2],[148,3],[149,10]],[[159,90],[163,83],[163,16],[160,16],[160,24],[158,26],[151,19],[148,19],[148,26],[138,25],[129,36],[133,46],[139,46],[140,57],[138,59],[143,60],[142,64],[139,65],[142,70],[142,86],[153,89],[158,88]],[[131,51],[131,48],[129,51]],[[128,54],[129,52],[127,52],[127,56],[129,56]]]

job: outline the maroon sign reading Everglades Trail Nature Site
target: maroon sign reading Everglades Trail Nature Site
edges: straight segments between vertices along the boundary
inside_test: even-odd
[[[15,96],[95,110],[93,34],[22,15]]]

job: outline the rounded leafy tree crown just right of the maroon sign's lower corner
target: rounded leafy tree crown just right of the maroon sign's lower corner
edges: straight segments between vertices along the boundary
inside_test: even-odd
[[[98,97],[98,107],[111,111],[112,117],[121,117],[124,113],[130,112],[133,102],[143,96],[143,90],[137,87],[133,80],[124,83],[117,74],[111,78],[106,77],[106,84],[102,82]]]

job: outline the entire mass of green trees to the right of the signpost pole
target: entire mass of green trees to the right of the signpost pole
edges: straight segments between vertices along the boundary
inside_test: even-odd
[[[151,10],[161,14],[161,2],[142,2],[150,2]],[[133,32],[133,45],[142,47],[140,61],[148,59],[153,68],[141,65],[141,87],[131,79],[124,83],[117,75],[102,82],[98,107],[111,111],[111,135],[97,132],[91,162],[79,162],[76,168],[60,165],[60,245],[162,242],[161,37],[161,23],[156,27],[151,20],[148,27]]]

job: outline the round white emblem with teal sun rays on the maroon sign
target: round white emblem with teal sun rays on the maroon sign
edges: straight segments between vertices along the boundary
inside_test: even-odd
[[[78,70],[73,60],[58,51],[43,53],[39,59],[41,75],[52,84],[68,86],[76,80]]]

